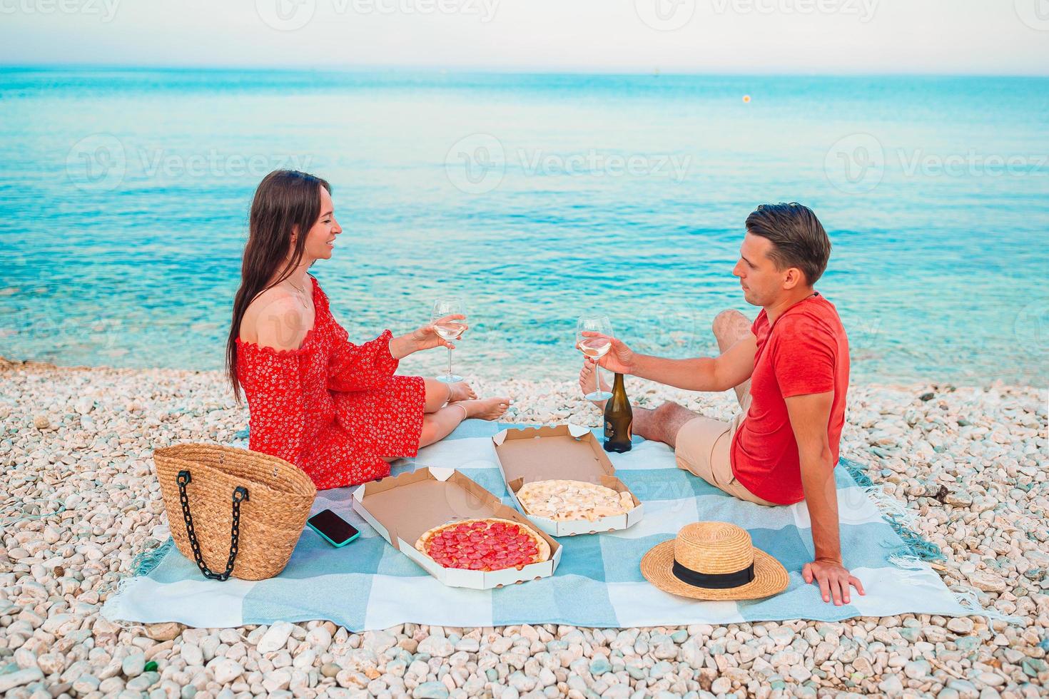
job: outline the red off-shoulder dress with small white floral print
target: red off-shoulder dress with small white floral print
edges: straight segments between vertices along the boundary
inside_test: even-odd
[[[394,376],[392,333],[352,345],[314,284],[315,321],[302,346],[276,350],[237,337],[237,378],[251,414],[249,449],[302,468],[318,489],[388,476],[380,457],[415,456],[426,389]]]

